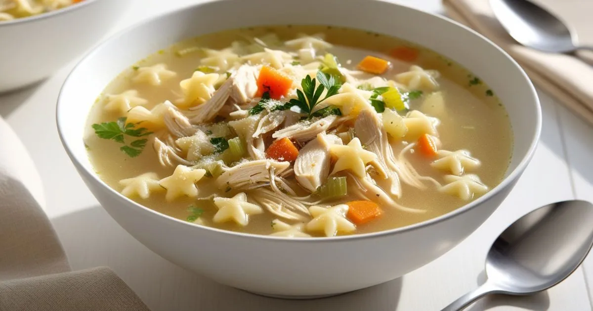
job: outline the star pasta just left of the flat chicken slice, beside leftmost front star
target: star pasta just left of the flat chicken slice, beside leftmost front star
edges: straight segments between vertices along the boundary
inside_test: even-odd
[[[185,165],[177,165],[173,175],[161,179],[158,183],[167,189],[165,198],[173,201],[181,195],[197,197],[196,182],[206,174],[205,169],[192,169]]]

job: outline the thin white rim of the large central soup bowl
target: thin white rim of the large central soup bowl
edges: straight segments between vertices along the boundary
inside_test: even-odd
[[[91,1],[98,1],[98,0],[88,0],[88,1],[91,2]],[[62,108],[60,108],[60,107],[62,107],[64,105],[62,103],[62,101],[63,101],[62,97],[63,97],[63,93],[64,93],[65,89],[69,88],[69,84],[74,83],[74,82],[72,82],[72,80],[73,80],[72,76],[74,75],[76,70],[79,68],[79,66],[82,66],[82,64],[87,62],[87,60],[90,59],[90,57],[93,57],[95,53],[98,53],[98,51],[101,49],[101,47],[106,46],[106,44],[108,44],[109,41],[111,41],[111,40],[125,36],[125,34],[129,33],[129,31],[145,27],[145,25],[148,25],[148,24],[155,23],[156,21],[160,20],[161,18],[170,17],[172,15],[180,14],[182,11],[185,11],[187,9],[196,9],[196,8],[202,7],[203,5],[209,5],[209,4],[213,4],[213,3],[217,3],[217,2],[232,2],[232,1],[236,1],[236,0],[218,0],[218,1],[208,0],[205,2],[200,2],[198,4],[187,5],[187,6],[184,6],[184,7],[178,8],[178,9],[174,9],[171,11],[162,12],[161,14],[157,14],[152,17],[146,18],[146,19],[141,20],[135,24],[129,25],[128,27],[123,28],[122,30],[117,31],[117,33],[107,37],[106,39],[101,41],[100,44],[97,44],[95,47],[93,47],[93,49],[90,50],[90,52],[85,54],[81,58],[81,60],[79,60],[79,62],[76,63],[74,68],[71,70],[71,72],[66,77],[66,79],[62,85],[62,88],[60,88],[60,92],[58,95],[58,102],[56,104],[56,125],[58,127],[58,134],[59,134],[60,140],[62,142],[64,149],[66,150],[66,153],[68,154],[69,158],[71,158],[71,161],[74,163],[75,167],[77,167],[79,170],[82,170],[82,172],[84,172],[84,174],[87,175],[88,178],[92,179],[94,182],[96,182],[98,185],[100,185],[101,188],[105,188],[114,197],[119,198],[120,201],[123,200],[123,201],[126,201],[127,203],[131,204],[131,206],[127,206],[126,208],[139,209],[141,213],[148,213],[148,216],[163,218],[163,219],[165,219],[165,221],[170,222],[171,225],[187,226],[188,228],[195,227],[195,229],[198,229],[198,230],[199,229],[209,230],[209,231],[216,232],[216,233],[222,233],[224,235],[234,236],[235,238],[262,239],[262,240],[276,241],[276,242],[282,241],[282,242],[286,242],[286,243],[311,243],[311,242],[330,243],[330,242],[345,242],[345,241],[353,241],[353,240],[361,240],[361,239],[373,239],[373,238],[380,238],[383,236],[397,235],[398,233],[412,232],[415,230],[419,230],[419,229],[422,229],[423,227],[428,227],[428,226],[435,225],[437,223],[444,222],[445,220],[451,219],[451,218],[456,217],[460,214],[466,213],[467,211],[469,211],[471,209],[476,208],[477,206],[482,204],[484,201],[487,201],[494,195],[498,194],[504,188],[508,187],[509,185],[512,185],[512,183],[515,182],[519,178],[519,176],[522,174],[522,172],[527,167],[528,163],[533,158],[535,149],[537,148],[537,145],[539,143],[540,136],[541,136],[542,114],[541,114],[540,100],[537,96],[537,92],[535,91],[535,87],[534,87],[533,83],[531,82],[531,79],[529,79],[527,76],[527,73],[525,73],[525,71],[521,68],[521,66],[519,66],[519,64],[508,53],[506,53],[505,50],[503,50],[501,47],[499,47],[498,45],[493,43],[491,40],[482,36],[482,34],[477,33],[477,31],[474,31],[471,28],[467,27],[466,25],[463,25],[461,23],[458,23],[457,21],[451,20],[450,18],[445,17],[443,15],[437,15],[437,14],[433,14],[431,12],[422,11],[420,9],[417,9],[415,7],[412,7],[412,6],[409,6],[406,4],[388,2],[385,0],[372,0],[375,2],[384,2],[386,4],[394,5],[396,7],[400,7],[400,8],[404,8],[404,9],[410,9],[410,10],[416,11],[416,13],[418,13],[418,14],[428,15],[427,18],[437,18],[439,20],[444,20],[448,23],[457,25],[457,27],[460,27],[462,29],[462,31],[469,31],[470,33],[474,34],[475,36],[477,36],[480,39],[489,43],[493,48],[497,49],[498,52],[502,53],[506,57],[506,59],[509,60],[512,63],[512,65],[514,65],[515,68],[517,68],[519,70],[519,74],[521,74],[522,78],[524,78],[525,82],[527,82],[527,86],[528,86],[527,91],[530,92],[531,96],[533,97],[533,102],[531,102],[531,104],[535,105],[535,107],[534,107],[535,108],[535,116],[534,116],[535,117],[535,133],[534,133],[533,137],[531,137],[531,143],[527,149],[527,152],[525,153],[525,155],[523,156],[521,161],[518,163],[517,167],[515,169],[513,169],[510,172],[510,174],[508,174],[505,178],[503,178],[502,181],[500,181],[500,183],[498,185],[496,185],[494,188],[492,188],[486,194],[482,195],[482,197],[479,197],[476,200],[471,201],[470,203],[467,203],[467,204],[459,207],[458,209],[449,211],[449,213],[442,214],[441,216],[434,217],[432,219],[428,219],[423,222],[415,223],[413,225],[397,227],[394,229],[382,230],[382,231],[378,231],[378,232],[360,233],[360,234],[355,234],[355,235],[315,237],[315,238],[291,238],[291,239],[278,237],[278,236],[257,235],[254,233],[235,232],[235,231],[231,231],[231,230],[218,229],[216,227],[202,226],[202,225],[197,225],[195,223],[189,223],[184,220],[168,216],[167,214],[163,214],[158,211],[152,210],[149,207],[146,207],[142,204],[137,203],[136,201],[131,200],[130,198],[125,197],[124,195],[122,195],[118,191],[114,190],[109,185],[107,185],[100,177],[98,177],[98,175],[94,171],[92,171],[92,169],[90,170],[86,166],[82,165],[81,161],[79,161],[78,157],[74,155],[74,153],[72,152],[71,148],[69,147],[68,143],[66,142],[66,140],[64,138],[65,130],[62,128],[62,124],[65,122],[61,121],[60,111],[62,111]],[[438,51],[435,51],[435,52],[438,53]],[[503,105],[504,105],[504,103],[503,103]],[[507,168],[507,172],[508,172],[508,168]]]

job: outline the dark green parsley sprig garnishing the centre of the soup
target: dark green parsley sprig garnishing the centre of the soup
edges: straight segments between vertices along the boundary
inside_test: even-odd
[[[319,85],[317,85],[317,81],[319,81]],[[311,119],[313,117],[318,116],[318,114],[326,114],[326,113],[336,113],[340,111],[338,108],[322,108],[323,110],[321,113],[317,113],[314,111],[316,105],[320,104],[327,98],[336,95],[339,89],[342,87],[342,83],[336,81],[336,79],[327,73],[323,73],[320,71],[317,72],[317,78],[311,79],[310,76],[305,76],[304,79],[301,81],[302,91],[297,89],[297,97],[292,98],[289,102],[286,102],[284,105],[279,105],[280,107],[276,106],[274,110],[286,110],[290,109],[295,111],[296,113],[307,114],[306,118]],[[326,96],[320,100],[321,94],[324,90],[327,89]],[[342,113],[340,112],[340,115]]]

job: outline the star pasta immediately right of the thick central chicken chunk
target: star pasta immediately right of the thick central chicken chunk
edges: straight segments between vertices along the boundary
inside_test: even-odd
[[[377,155],[368,150],[362,149],[361,140],[358,137],[350,140],[348,145],[331,145],[331,155],[337,158],[331,174],[350,169],[356,176],[366,176],[366,163],[377,159]]]

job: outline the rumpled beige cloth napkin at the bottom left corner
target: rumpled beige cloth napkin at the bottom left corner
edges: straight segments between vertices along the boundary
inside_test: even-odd
[[[0,310],[148,310],[109,268],[72,272],[42,204],[33,161],[0,117]]]

